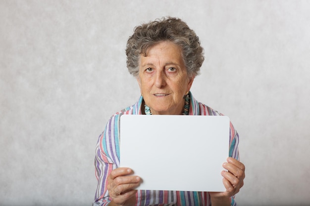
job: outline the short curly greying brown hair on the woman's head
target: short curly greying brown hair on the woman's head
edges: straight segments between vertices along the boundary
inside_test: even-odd
[[[163,17],[135,27],[126,46],[126,63],[131,75],[139,75],[140,55],[146,56],[148,49],[160,41],[171,41],[180,46],[188,76],[199,75],[205,60],[204,48],[196,33],[184,21],[174,17]]]

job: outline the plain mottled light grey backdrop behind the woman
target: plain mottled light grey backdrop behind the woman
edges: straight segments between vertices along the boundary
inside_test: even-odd
[[[0,0],[0,205],[91,205],[95,145],[140,91],[133,28],[185,20],[206,61],[196,99],[229,116],[240,206],[310,203],[310,1]]]

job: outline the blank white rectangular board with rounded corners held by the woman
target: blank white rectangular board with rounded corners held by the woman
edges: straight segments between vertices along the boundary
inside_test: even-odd
[[[120,166],[142,178],[139,190],[225,191],[227,116],[122,115]]]

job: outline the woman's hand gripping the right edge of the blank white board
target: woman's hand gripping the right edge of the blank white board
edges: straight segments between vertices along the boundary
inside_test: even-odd
[[[223,167],[228,171],[222,171],[223,184],[226,188],[225,192],[210,192],[211,201],[228,199],[237,194],[243,186],[245,178],[245,165],[234,158],[227,158],[227,163]],[[213,202],[212,202],[213,206]]]

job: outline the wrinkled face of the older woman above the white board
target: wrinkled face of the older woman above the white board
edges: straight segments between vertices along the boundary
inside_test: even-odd
[[[180,115],[184,95],[190,90],[194,77],[189,78],[175,43],[162,41],[140,56],[137,81],[143,99],[154,115]]]

